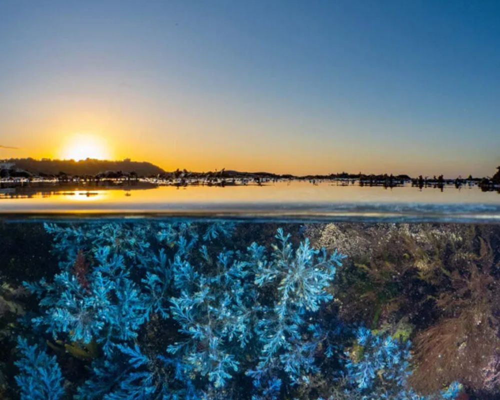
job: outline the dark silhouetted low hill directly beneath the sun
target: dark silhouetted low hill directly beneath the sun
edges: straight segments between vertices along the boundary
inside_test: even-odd
[[[15,168],[24,169],[32,174],[56,175],[64,172],[67,175],[96,175],[104,171],[135,172],[138,176],[150,176],[164,173],[159,166],[146,161],[121,161],[99,160],[87,158],[84,160],[60,160],[34,158],[11,158],[7,162],[15,163]]]

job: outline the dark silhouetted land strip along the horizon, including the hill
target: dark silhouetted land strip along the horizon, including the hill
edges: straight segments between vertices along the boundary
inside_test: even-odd
[[[410,177],[406,174],[365,174],[365,173],[331,173],[314,175],[292,175],[275,174],[271,172],[244,172],[227,170],[225,168],[215,171],[194,172],[186,169],[176,169],[167,172],[157,165],[147,161],[124,160],[99,160],[87,158],[84,160],[58,160],[42,158],[11,158],[0,161],[0,178],[46,178],[59,181],[84,180],[99,181],[105,179],[137,180],[138,178],[152,177],[159,180],[248,180],[254,182],[276,180],[276,179],[305,179],[313,183],[321,180],[358,180],[361,185],[384,185],[398,186],[411,183],[414,186],[424,187],[428,185],[442,186],[454,184],[460,187],[466,183],[474,183],[483,188],[497,187],[500,185],[500,166],[491,177],[461,176],[456,178],[444,178],[442,174],[433,177],[419,175]]]

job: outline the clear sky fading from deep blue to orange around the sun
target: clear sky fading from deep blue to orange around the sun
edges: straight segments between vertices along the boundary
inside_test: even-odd
[[[500,2],[0,0],[0,159],[26,156],[491,175]]]

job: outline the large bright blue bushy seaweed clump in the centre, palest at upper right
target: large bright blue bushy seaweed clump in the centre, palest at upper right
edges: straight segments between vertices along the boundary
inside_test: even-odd
[[[293,250],[282,229],[276,239],[270,257],[256,243],[246,253],[223,251],[216,257],[202,246],[201,262],[176,256],[172,264],[178,294],[170,299],[170,313],[185,339],[167,350],[181,354],[215,388],[245,372],[257,392],[270,392],[260,385],[274,382],[270,387],[275,388],[277,371],[290,385],[317,371],[319,340],[306,317],[332,298],[328,288],[343,256],[328,257],[307,239]],[[256,358],[256,364],[248,362]]]

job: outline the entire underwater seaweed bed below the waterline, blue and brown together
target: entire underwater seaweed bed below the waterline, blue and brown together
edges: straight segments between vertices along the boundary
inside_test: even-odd
[[[500,225],[0,220],[0,398],[500,398]]]

